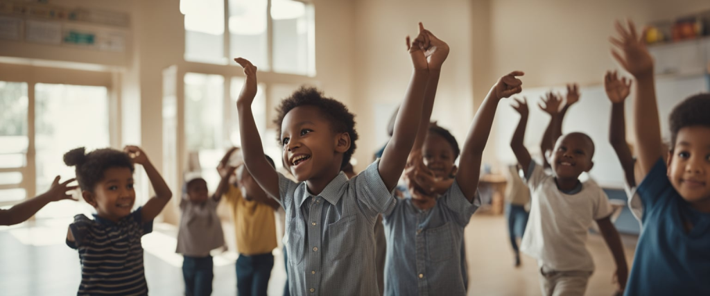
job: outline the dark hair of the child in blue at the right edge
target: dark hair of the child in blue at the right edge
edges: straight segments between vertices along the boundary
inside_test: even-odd
[[[677,104],[668,116],[670,150],[675,148],[678,131],[687,126],[710,127],[710,93],[696,94]]]

